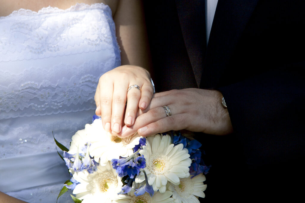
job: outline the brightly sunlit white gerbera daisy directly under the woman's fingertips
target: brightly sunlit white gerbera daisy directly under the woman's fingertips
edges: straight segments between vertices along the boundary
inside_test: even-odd
[[[139,144],[141,138],[138,134],[131,135],[127,138],[119,138],[115,134],[106,132],[102,127],[102,120],[96,119],[90,128],[90,148],[89,154],[94,157],[96,162],[104,165],[112,159],[128,157],[133,154],[132,148]],[[92,136],[95,135],[95,136]]]

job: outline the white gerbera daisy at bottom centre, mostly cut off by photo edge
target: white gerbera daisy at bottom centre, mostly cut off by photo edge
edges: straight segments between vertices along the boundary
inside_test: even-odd
[[[172,192],[166,191],[161,194],[159,191],[155,192],[155,194],[150,197],[150,195],[145,192],[140,196],[135,196],[133,193],[131,195],[121,196],[120,199],[112,201],[113,203],[172,203],[174,202],[173,198],[171,198]]]

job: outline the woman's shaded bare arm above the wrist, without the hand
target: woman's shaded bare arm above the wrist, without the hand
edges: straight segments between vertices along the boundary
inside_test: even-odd
[[[121,0],[113,16],[122,65],[150,71],[151,59],[142,1]]]

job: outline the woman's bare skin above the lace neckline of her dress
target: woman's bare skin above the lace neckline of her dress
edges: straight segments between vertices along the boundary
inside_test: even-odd
[[[40,9],[48,6],[57,7],[59,9],[68,9],[76,3],[95,4],[104,3],[110,7],[113,15],[117,10],[119,0],[0,0],[0,16],[8,16],[13,11],[19,9],[29,9],[32,11],[39,11]]]

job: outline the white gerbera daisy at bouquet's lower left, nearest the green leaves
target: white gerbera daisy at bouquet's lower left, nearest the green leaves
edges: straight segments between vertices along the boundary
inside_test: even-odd
[[[73,178],[78,184],[73,190],[76,198],[83,200],[83,203],[100,202],[111,203],[118,199],[123,183],[121,178],[112,168],[110,162],[105,166],[97,166],[97,171],[89,174],[87,170],[74,173]]]

